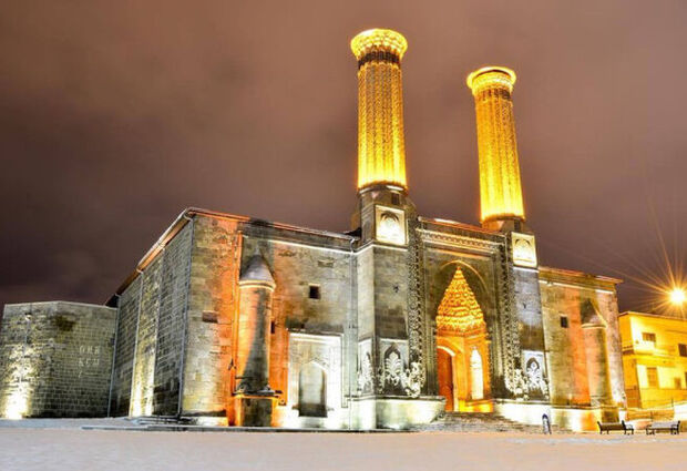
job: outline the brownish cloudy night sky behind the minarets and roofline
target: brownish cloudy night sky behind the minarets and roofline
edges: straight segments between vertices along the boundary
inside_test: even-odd
[[[687,265],[687,2],[2,1],[0,305],[104,303],[187,206],[349,229],[350,39],[406,35],[420,214],[478,224],[465,76],[517,73],[544,265],[639,280]],[[662,242],[663,240],[663,242]]]

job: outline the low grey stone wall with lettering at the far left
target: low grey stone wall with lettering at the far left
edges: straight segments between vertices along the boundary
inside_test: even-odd
[[[0,417],[103,417],[116,310],[78,303],[7,305]]]

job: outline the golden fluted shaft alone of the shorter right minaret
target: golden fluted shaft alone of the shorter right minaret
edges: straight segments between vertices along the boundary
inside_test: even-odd
[[[480,154],[482,225],[495,229],[520,229],[525,221],[517,142],[513,117],[515,72],[485,66],[468,75],[474,96]]]

